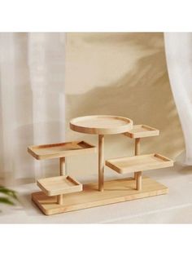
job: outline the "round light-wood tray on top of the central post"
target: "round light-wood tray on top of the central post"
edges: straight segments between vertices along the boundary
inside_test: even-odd
[[[70,121],[72,130],[92,135],[121,134],[133,128],[133,121],[117,116],[76,117]]]

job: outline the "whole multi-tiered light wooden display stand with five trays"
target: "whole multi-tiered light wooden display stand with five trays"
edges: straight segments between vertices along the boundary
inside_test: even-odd
[[[141,139],[159,135],[159,130],[144,125],[133,126],[133,121],[129,118],[116,116],[77,117],[70,122],[70,127],[78,132],[98,135],[98,183],[82,187],[76,179],[66,176],[64,171],[65,157],[96,152],[93,145],[79,141],[28,147],[28,152],[37,160],[59,158],[60,162],[60,176],[37,180],[41,192],[32,194],[32,200],[44,214],[59,214],[168,192],[163,184],[142,177],[145,170],[173,166],[171,159],[158,153],[139,155]],[[135,139],[135,156],[104,160],[104,135],[115,134]],[[104,183],[105,165],[119,174],[134,173],[134,178]]]

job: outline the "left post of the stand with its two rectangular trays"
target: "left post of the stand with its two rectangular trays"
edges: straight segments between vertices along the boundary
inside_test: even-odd
[[[37,180],[37,186],[41,188],[43,194],[49,197],[56,196],[57,205],[55,208],[59,209],[58,205],[63,205],[63,195],[81,192],[83,189],[81,183],[65,174],[65,157],[96,152],[96,147],[85,141],[72,141],[30,146],[28,152],[37,160],[59,158],[60,176]],[[41,204],[37,203],[37,205],[41,209]]]

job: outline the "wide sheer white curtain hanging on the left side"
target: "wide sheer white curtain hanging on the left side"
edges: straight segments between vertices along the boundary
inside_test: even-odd
[[[0,176],[45,176],[28,145],[64,139],[64,33],[0,33]]]

